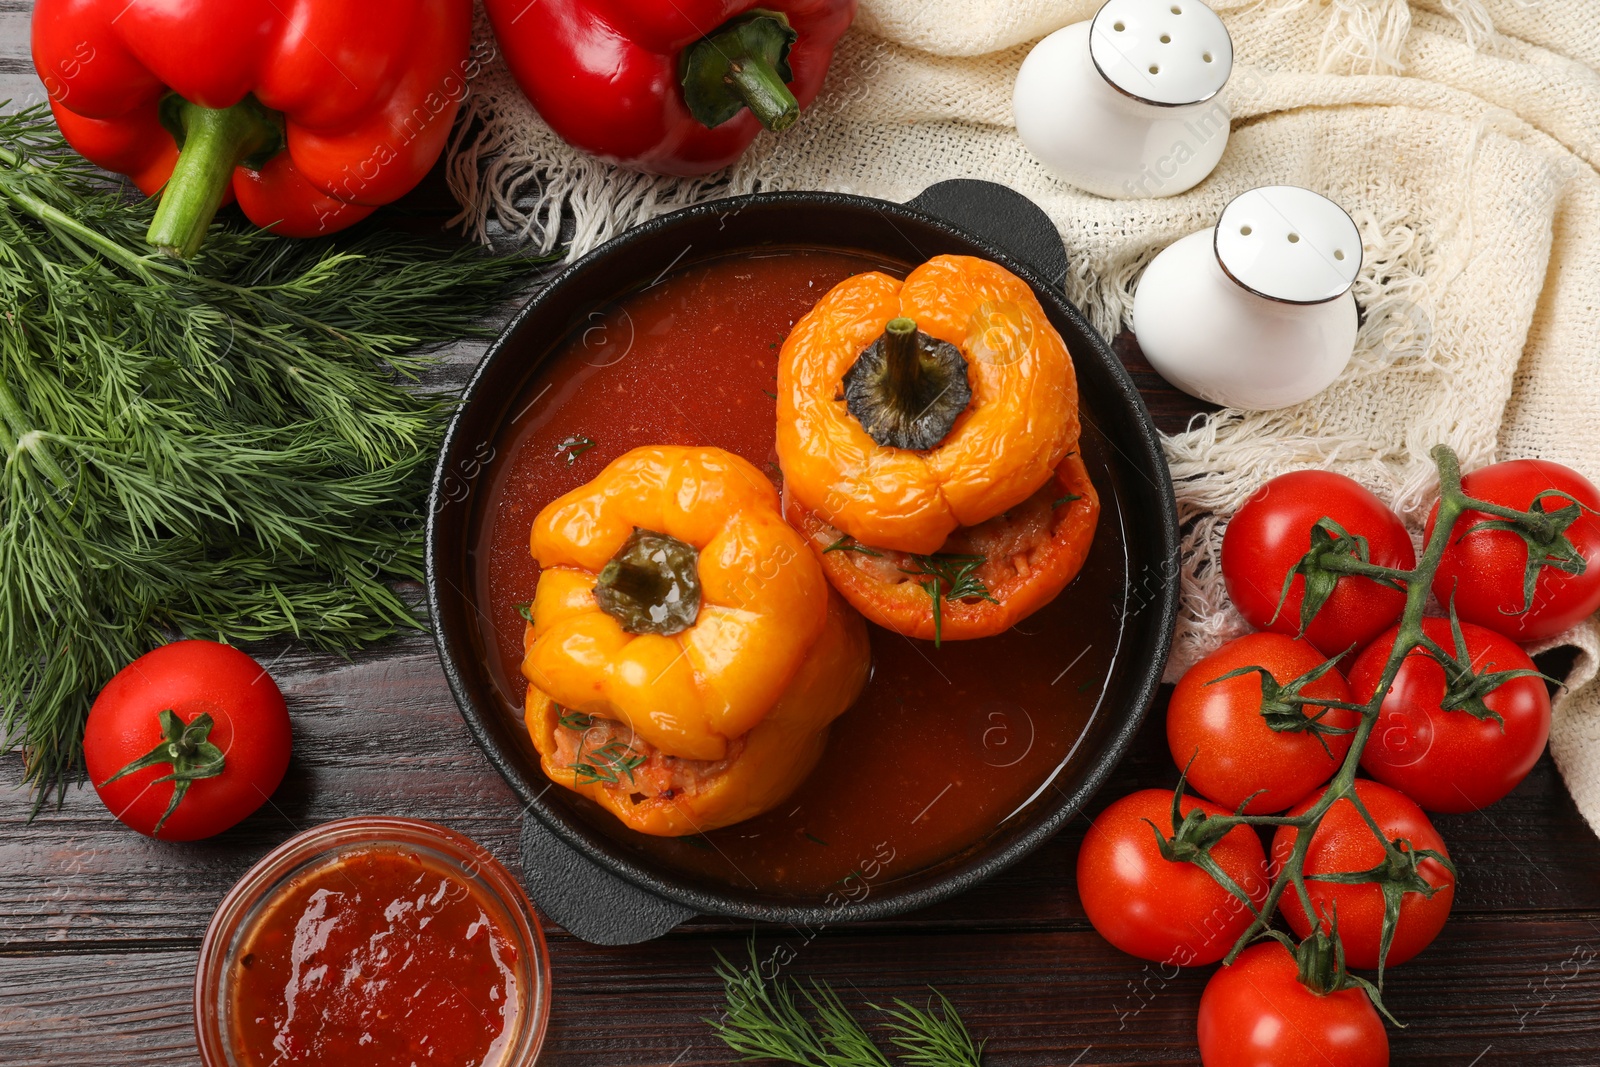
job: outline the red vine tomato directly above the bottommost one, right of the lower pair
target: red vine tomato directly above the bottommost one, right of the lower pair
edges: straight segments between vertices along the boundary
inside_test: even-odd
[[[1389,789],[1381,782],[1357,779],[1355,793],[1366,805],[1390,841],[1405,838],[1410,841],[1402,851],[1434,851],[1450,859],[1445,838],[1438,835],[1434,824],[1427,821],[1422,809],[1411,803],[1403,793]],[[1318,795],[1320,798],[1320,795]],[[1317,798],[1294,808],[1290,814],[1299,816],[1310,808]],[[1272,875],[1277,877],[1283,862],[1294,851],[1299,830],[1291,825],[1278,827],[1272,837]],[[1376,968],[1378,950],[1382,944],[1384,928],[1384,894],[1378,883],[1338,885],[1317,881],[1318,873],[1342,873],[1350,870],[1371,870],[1384,862],[1384,848],[1373,837],[1371,827],[1362,819],[1362,813],[1349,798],[1341,798],[1328,808],[1322,825],[1310,838],[1310,849],[1306,853],[1306,889],[1312,907],[1322,918],[1323,929],[1330,929],[1328,917],[1339,913],[1339,941],[1344,942],[1344,958],[1354,968]],[[1394,942],[1389,945],[1387,966],[1398,966],[1418,952],[1432,944],[1438,931],[1445,928],[1450,917],[1450,905],[1456,899],[1456,877],[1450,869],[1435,859],[1418,861],[1418,873],[1435,888],[1434,896],[1421,891],[1408,891],[1400,897],[1400,921],[1395,925]],[[1283,891],[1283,918],[1301,937],[1310,933],[1310,920],[1301,907],[1299,894],[1293,886]]]

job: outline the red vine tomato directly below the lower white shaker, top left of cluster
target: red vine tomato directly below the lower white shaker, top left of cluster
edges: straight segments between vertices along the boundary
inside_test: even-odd
[[[1301,633],[1306,576],[1294,574],[1288,597],[1283,597],[1283,579],[1310,552],[1312,528],[1322,518],[1333,520],[1352,537],[1363,537],[1370,563],[1395,569],[1416,566],[1405,523],[1358,482],[1328,470],[1294,470],[1256,490],[1227,523],[1222,581],[1250,625],[1298,633],[1323,654],[1342,656],[1360,651],[1400,617],[1405,592],[1371,577],[1328,576],[1331,592]]]

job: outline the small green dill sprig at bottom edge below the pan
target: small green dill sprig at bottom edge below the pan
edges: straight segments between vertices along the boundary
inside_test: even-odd
[[[973,1045],[955,1008],[942,993],[938,1014],[904,1000],[894,1008],[867,1005],[885,1016],[883,1027],[896,1061],[883,1053],[872,1035],[850,1014],[827,982],[800,985],[768,979],[750,944],[750,966],[736,968],[717,955],[726,1011],[706,1024],[722,1041],[746,1059],[779,1059],[800,1067],[981,1067],[982,1045]],[[798,992],[798,997],[795,995]],[[802,1001],[810,1005],[806,1017]]]

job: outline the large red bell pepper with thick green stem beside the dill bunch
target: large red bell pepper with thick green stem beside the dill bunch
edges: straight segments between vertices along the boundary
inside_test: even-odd
[[[290,237],[405,195],[450,136],[470,0],[38,0],[34,66],[67,141],[162,192],[192,256],[218,208]]]

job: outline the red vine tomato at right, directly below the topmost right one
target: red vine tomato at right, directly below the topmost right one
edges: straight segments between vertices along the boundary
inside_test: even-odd
[[[1550,694],[1531,673],[1528,654],[1494,630],[1462,622],[1466,656],[1456,649],[1448,621],[1422,619],[1422,632],[1472,673],[1446,677],[1421,648],[1406,656],[1378,712],[1362,766],[1429,811],[1477,811],[1514,790],[1539,761],[1550,737]],[[1395,633],[1379,637],[1355,661],[1355,702],[1378,691]],[[1504,677],[1518,670],[1530,673]],[[1485,693],[1496,677],[1499,683]]]

